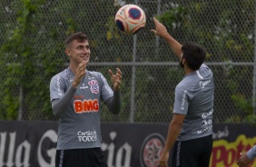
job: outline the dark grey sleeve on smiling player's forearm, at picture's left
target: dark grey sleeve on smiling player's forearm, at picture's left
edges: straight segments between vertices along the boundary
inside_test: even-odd
[[[62,113],[64,113],[64,111],[68,108],[68,105],[72,101],[75,91],[76,89],[72,85],[70,85],[62,98],[54,99],[51,102],[55,116],[61,117]]]

